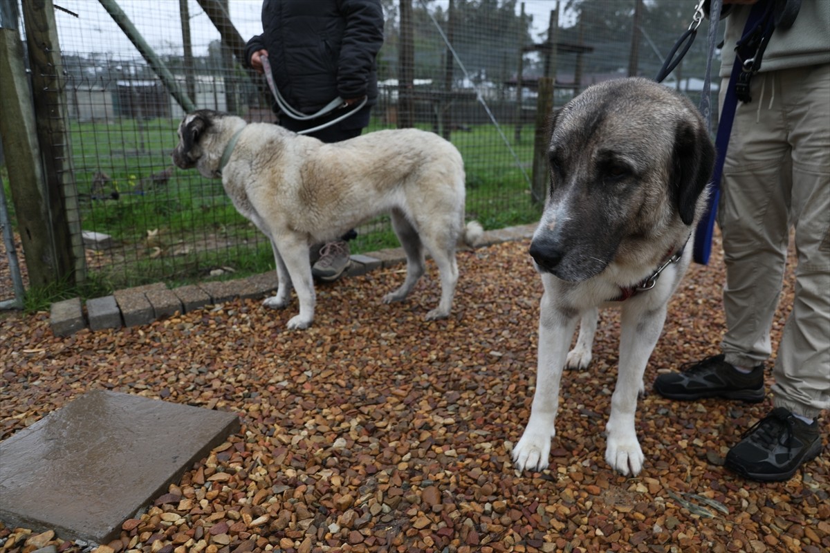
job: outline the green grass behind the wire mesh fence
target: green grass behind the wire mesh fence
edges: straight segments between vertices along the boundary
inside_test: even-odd
[[[208,278],[210,270],[218,267],[235,271],[225,278],[273,268],[270,245],[233,208],[220,181],[175,168],[166,183],[149,186],[151,175],[172,166],[177,125],[169,119],[71,122],[81,225],[84,230],[110,235],[116,248],[91,256],[83,287],[56,284],[55,289],[32,290],[27,294],[27,309],[69,293],[93,297],[89,294],[149,282],[188,284]],[[373,121],[367,132],[382,128]],[[465,160],[467,219],[480,221],[486,229],[538,220],[541,207],[531,201],[525,177],[532,160],[527,129],[524,143],[513,145],[515,157],[493,125],[452,133],[452,143]],[[511,126],[502,132],[513,136]],[[103,187],[95,188],[98,172],[109,178]],[[111,199],[115,192],[117,200]],[[398,239],[386,221],[388,217],[381,216],[360,227],[351,244],[353,253],[397,247]],[[96,263],[99,258],[107,262]]]

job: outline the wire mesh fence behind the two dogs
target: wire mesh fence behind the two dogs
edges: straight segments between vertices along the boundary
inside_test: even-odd
[[[222,183],[170,160],[189,105],[183,97],[198,109],[276,122],[265,81],[229,40],[261,33],[262,0],[53,1],[68,145],[62,167],[76,197],[67,211],[80,221],[86,278],[119,288],[269,269],[270,245],[237,214]],[[380,95],[364,132],[416,126],[442,134],[465,161],[468,218],[486,228],[534,221],[544,201],[531,183],[544,119],[540,79],[554,77],[559,106],[601,80],[653,77],[694,3],[383,0]],[[217,5],[228,16],[218,26],[209,15]],[[667,83],[695,102],[705,42]],[[357,230],[353,252],[396,244],[383,217]]]

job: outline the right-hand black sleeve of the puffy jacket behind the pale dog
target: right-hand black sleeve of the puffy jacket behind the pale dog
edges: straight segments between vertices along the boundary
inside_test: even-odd
[[[341,98],[366,95],[375,57],[383,46],[383,8],[380,0],[342,0],[346,27],[337,69],[337,93]]]

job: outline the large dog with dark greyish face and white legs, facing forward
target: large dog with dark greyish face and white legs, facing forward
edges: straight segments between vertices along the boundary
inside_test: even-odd
[[[513,459],[520,469],[548,466],[563,368],[588,365],[598,308],[610,302],[622,315],[605,460],[636,475],[637,392],[691,260],[715,148],[691,102],[632,78],[594,85],[555,114],[548,155],[548,200],[530,243],[544,284],[536,390]]]

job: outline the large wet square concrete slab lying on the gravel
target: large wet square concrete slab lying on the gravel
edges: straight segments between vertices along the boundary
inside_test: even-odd
[[[238,429],[232,413],[90,391],[0,443],[0,521],[107,543]]]

